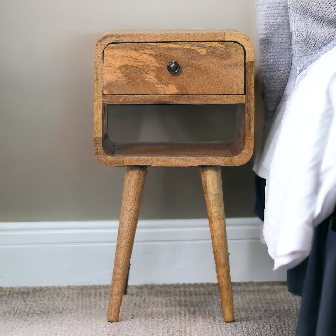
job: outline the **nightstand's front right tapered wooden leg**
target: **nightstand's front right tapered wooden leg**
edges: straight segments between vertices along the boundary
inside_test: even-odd
[[[225,322],[234,322],[220,167],[201,167],[201,178],[208,210],[223,317]]]

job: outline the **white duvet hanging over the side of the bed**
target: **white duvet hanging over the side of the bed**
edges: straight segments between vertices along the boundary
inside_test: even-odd
[[[274,269],[310,253],[336,204],[336,47],[291,76],[254,171],[266,178],[263,235]]]

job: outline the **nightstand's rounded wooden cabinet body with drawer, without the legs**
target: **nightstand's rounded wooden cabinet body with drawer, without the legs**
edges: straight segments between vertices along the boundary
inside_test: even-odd
[[[203,42],[202,42],[203,41]],[[180,69],[170,73],[167,65]],[[109,104],[236,104],[227,141],[120,142]],[[125,120],[127,122],[127,120]],[[254,48],[230,29],[110,31],[94,50],[94,148],[108,166],[239,166],[253,153]]]

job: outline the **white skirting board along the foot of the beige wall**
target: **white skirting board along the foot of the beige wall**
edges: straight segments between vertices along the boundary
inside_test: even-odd
[[[232,281],[285,280],[258,218],[226,220]],[[0,223],[0,286],[110,284],[118,221]],[[207,219],[140,220],[129,284],[217,282]]]

